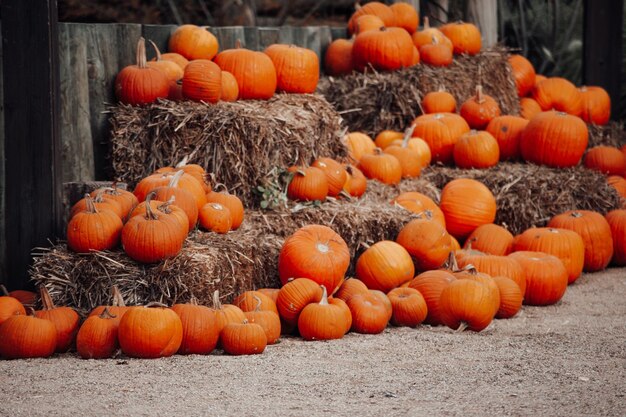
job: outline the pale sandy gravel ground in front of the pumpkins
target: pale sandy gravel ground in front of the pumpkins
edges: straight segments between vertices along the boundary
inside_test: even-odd
[[[482,333],[388,328],[222,354],[0,361],[2,416],[624,416],[626,269]]]

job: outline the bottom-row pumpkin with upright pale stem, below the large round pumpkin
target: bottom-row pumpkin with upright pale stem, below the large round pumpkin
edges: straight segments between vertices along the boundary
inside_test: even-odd
[[[304,307],[298,330],[304,340],[341,339],[346,333],[346,314],[339,304],[329,304],[324,288],[322,300]]]

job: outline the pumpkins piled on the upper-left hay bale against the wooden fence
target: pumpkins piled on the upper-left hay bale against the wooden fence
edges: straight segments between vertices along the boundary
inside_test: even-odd
[[[115,94],[125,104],[145,105],[158,98],[205,103],[238,99],[267,100],[276,91],[312,93],[319,60],[310,49],[274,44],[257,52],[237,47],[218,53],[217,38],[205,28],[183,25],[169,40],[170,52],[146,60],[145,40],[137,44],[137,62],[115,79]]]

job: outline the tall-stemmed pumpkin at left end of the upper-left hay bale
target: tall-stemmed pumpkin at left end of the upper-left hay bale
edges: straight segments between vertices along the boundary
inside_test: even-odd
[[[133,106],[153,103],[166,98],[170,81],[156,68],[146,64],[146,44],[143,38],[137,43],[137,62],[124,67],[115,77],[115,96],[124,104]]]

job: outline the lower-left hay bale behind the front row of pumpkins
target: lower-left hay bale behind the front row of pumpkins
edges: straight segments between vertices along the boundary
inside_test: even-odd
[[[257,241],[258,234],[250,232],[194,232],[176,257],[153,265],[139,264],[122,250],[77,254],[59,243],[39,249],[30,274],[36,285],[48,288],[55,303],[83,313],[110,304],[112,285],[118,286],[128,305],[150,301],[172,305],[187,302],[192,295],[209,305],[215,290],[228,301],[246,290],[277,285],[263,273],[263,260],[254,257],[251,248]]]

